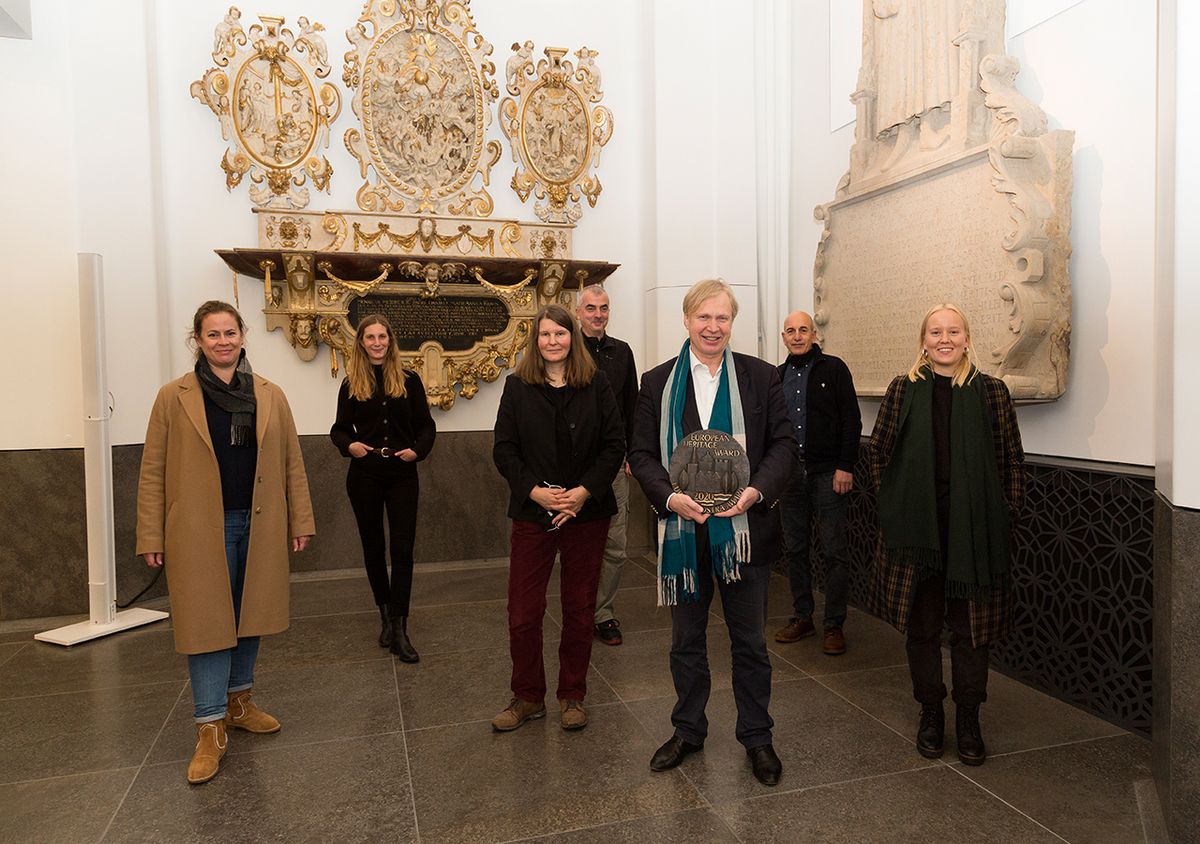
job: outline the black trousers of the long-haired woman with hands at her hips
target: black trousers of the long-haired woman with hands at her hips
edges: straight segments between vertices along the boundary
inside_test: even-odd
[[[408,615],[413,594],[413,540],[416,538],[416,472],[376,469],[360,461],[382,461],[367,455],[350,463],[346,491],[362,540],[362,564],[378,606],[389,605],[396,616]],[[395,460],[395,457],[389,457]],[[384,562],[383,516],[388,513],[388,541],[391,545],[391,583]]]

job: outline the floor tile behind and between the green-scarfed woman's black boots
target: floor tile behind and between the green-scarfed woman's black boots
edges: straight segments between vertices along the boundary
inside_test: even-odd
[[[942,674],[949,686],[948,656],[943,659]],[[820,681],[907,736],[910,741],[916,741],[920,705],[912,698],[907,665],[827,675],[820,677]],[[947,699],[944,707],[946,759],[953,761],[954,702]],[[1118,726],[996,671],[991,671],[988,677],[988,702],[979,708],[979,724],[991,754],[1124,735],[1124,730]]]

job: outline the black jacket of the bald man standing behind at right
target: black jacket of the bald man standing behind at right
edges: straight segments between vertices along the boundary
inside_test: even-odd
[[[863,436],[854,379],[841,358],[826,354],[820,346],[812,349],[815,357],[805,400],[809,432],[804,437],[804,462],[812,474],[834,469],[853,473],[858,441]],[[782,381],[787,361],[776,369]],[[787,396],[784,399],[786,401]]]

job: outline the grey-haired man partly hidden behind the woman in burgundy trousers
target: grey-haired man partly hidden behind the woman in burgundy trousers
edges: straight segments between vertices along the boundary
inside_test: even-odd
[[[583,331],[583,347],[592,353],[612,387],[625,431],[625,443],[634,433],[634,406],[637,403],[637,367],[629,343],[610,336],[608,293],[600,285],[588,285],[580,292],[575,309]],[[613,600],[620,585],[620,569],[625,564],[625,522],[629,516],[629,463],[624,463],[612,481],[617,498],[617,515],[608,522],[608,541],[604,549],[600,585],[596,588],[595,631],[605,645],[620,645],[620,622],[613,613]]]

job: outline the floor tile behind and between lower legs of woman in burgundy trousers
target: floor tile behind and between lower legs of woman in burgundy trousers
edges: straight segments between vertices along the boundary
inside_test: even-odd
[[[558,630],[547,625],[545,633],[546,706],[557,716]],[[415,665],[397,663],[396,680],[404,728],[415,730],[491,720],[512,696],[511,678],[512,662],[508,648],[433,654],[421,657]],[[587,704],[611,704],[616,700],[617,695],[608,684],[595,669],[590,669]]]

